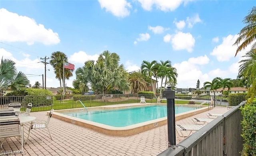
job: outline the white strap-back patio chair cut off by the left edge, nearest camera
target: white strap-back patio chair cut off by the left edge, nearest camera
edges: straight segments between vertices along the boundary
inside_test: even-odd
[[[4,138],[1,142],[1,149],[3,143],[10,137],[21,137],[21,151],[23,152],[23,130],[20,126],[20,119],[18,117],[1,117],[0,118],[0,139]]]

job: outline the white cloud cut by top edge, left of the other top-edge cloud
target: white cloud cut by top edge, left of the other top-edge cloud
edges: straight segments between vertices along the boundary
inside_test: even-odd
[[[106,9],[106,12],[111,12],[114,16],[124,18],[130,15],[132,5],[126,0],[98,0],[100,7]]]

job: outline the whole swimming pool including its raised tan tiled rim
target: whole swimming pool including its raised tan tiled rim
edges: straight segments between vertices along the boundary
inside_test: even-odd
[[[175,120],[212,109],[196,105],[175,105],[175,108]],[[54,110],[52,117],[111,136],[130,136],[167,124],[166,104],[131,103],[87,109]]]

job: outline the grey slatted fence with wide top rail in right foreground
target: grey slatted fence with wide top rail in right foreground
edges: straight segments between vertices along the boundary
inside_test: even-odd
[[[243,148],[241,110],[246,101],[158,156],[239,156]]]

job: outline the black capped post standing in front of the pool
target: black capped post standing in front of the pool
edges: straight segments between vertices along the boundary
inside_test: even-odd
[[[163,91],[162,97],[167,100],[167,127],[168,127],[168,147],[176,145],[176,133],[175,133],[175,91],[171,90],[171,87],[167,87]]]

